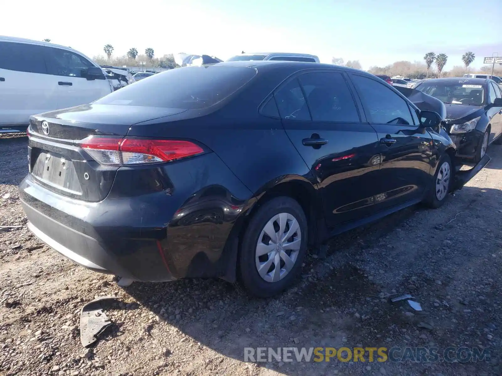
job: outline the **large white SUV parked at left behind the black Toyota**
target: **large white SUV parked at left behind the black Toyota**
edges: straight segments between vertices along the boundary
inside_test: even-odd
[[[30,115],[89,103],[112,91],[101,67],[78,51],[0,36],[0,128],[26,130]]]

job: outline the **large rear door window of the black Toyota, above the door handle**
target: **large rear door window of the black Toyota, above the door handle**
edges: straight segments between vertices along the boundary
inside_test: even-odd
[[[352,94],[338,72],[305,73],[299,77],[314,121],[358,122]]]

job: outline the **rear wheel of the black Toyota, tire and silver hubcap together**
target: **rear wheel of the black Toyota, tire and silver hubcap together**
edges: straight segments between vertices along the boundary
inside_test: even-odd
[[[240,280],[258,297],[288,288],[301,270],[307,249],[307,219],[289,197],[265,203],[249,221],[239,253]]]

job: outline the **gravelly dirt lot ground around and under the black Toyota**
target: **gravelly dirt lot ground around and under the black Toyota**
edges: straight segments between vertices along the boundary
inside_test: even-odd
[[[274,299],[220,280],[133,283],[90,272],[26,228],[17,184],[26,137],[0,138],[0,374],[2,375],[500,375],[502,148],[439,210],[413,207],[309,257]],[[422,304],[391,304],[411,293]],[[113,322],[91,350],[81,306],[115,295]],[[424,325],[425,323],[425,325]],[[421,326],[426,326],[421,327]],[[489,347],[478,362],[243,361],[244,347]],[[293,356],[294,358],[294,356]]]

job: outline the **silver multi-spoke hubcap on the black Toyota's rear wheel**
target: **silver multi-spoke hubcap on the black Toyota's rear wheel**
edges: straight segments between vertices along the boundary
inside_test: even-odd
[[[265,225],[256,245],[256,268],[267,282],[277,282],[293,269],[302,233],[295,217],[279,213]]]

